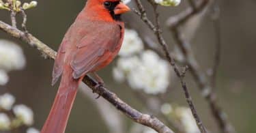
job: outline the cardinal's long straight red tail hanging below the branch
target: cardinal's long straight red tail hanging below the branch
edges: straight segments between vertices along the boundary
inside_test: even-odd
[[[80,80],[72,78],[71,68],[63,72],[59,90],[41,133],[64,133]]]

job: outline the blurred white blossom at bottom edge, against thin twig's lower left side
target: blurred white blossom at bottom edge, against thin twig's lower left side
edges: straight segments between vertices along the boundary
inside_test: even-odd
[[[199,129],[197,128],[197,123],[191,113],[190,108],[178,107],[175,109],[175,114],[180,118],[182,125],[184,126],[184,130],[187,133],[199,133]]]

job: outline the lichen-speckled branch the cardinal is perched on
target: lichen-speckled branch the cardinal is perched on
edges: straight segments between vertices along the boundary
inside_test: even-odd
[[[42,43],[30,33],[27,33],[26,35],[25,32],[20,31],[6,23],[3,23],[2,21],[0,21],[0,29],[10,34],[12,37],[23,40],[31,46],[34,46],[43,55],[47,55],[47,57],[55,59],[55,50],[49,48],[46,44]],[[173,133],[173,131],[168,128],[164,123],[162,123],[159,119],[150,115],[140,113],[138,110],[135,110],[134,108],[123,102],[117,97],[115,93],[112,93],[105,87],[94,88],[97,83],[93,79],[89,78],[89,76],[85,76],[83,82],[94,92],[102,95],[102,98],[108,100],[111,104],[113,104],[113,106],[115,106],[118,110],[124,113],[127,117],[130,117],[130,119],[132,119],[133,121],[146,125],[160,133]]]

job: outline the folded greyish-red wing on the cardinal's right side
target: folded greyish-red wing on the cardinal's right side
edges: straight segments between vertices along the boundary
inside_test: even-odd
[[[115,51],[120,38],[119,25],[98,23],[97,27],[76,45],[77,49],[71,62],[73,78],[79,78],[102,65]]]

